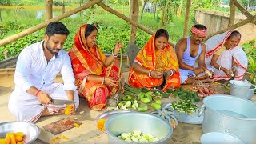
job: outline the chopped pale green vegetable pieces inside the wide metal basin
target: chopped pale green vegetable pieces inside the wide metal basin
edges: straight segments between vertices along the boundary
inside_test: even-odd
[[[118,136],[118,138],[127,142],[140,142],[140,143],[159,141],[159,138],[156,138],[151,134],[142,133],[141,131],[122,133]]]

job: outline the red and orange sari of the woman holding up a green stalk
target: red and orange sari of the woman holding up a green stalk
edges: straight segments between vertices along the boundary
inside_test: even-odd
[[[118,80],[119,62],[114,60],[110,66],[104,66],[106,58],[99,47],[86,45],[86,26],[82,25],[74,37],[74,46],[69,55],[76,78],[76,85],[80,96],[84,96],[88,101],[88,106],[93,110],[103,110],[106,108],[106,98],[115,94],[119,86],[106,85],[105,77]],[[87,81],[90,74],[102,77],[102,82]]]

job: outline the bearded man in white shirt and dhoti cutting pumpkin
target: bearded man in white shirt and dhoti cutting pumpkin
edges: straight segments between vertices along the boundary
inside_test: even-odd
[[[70,34],[62,22],[50,22],[42,42],[27,46],[18,56],[9,110],[19,121],[36,122],[46,115],[64,114],[66,105],[53,105],[51,98],[74,101],[70,114],[79,105],[70,57],[62,50]],[[64,84],[55,83],[62,74]]]

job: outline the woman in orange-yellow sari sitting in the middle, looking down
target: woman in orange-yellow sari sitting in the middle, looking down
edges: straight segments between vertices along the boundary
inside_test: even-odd
[[[168,32],[159,29],[138,52],[129,72],[130,86],[153,88],[162,85],[164,77],[163,91],[180,86],[177,56],[168,39]]]

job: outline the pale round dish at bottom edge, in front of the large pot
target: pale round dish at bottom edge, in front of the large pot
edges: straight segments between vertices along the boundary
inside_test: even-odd
[[[201,137],[202,144],[245,144],[240,138],[237,138],[231,134],[219,133],[219,132],[210,132],[203,134]]]

